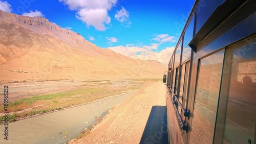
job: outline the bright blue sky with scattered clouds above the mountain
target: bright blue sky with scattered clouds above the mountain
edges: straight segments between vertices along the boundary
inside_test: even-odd
[[[172,55],[193,4],[185,0],[0,0],[0,10],[43,16],[104,49],[166,64],[167,58],[161,57]]]

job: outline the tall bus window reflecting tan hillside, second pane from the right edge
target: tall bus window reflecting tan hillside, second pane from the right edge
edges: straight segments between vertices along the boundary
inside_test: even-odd
[[[224,50],[200,60],[190,143],[212,143]]]

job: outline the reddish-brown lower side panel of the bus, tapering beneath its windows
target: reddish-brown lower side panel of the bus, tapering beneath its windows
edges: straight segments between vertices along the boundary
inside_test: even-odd
[[[167,128],[169,143],[179,144],[183,143],[179,123],[176,118],[176,112],[173,106],[172,98],[169,95],[168,89],[166,88],[166,109],[167,109]]]

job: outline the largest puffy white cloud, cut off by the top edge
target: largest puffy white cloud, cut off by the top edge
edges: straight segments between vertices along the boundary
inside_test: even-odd
[[[85,22],[87,27],[93,26],[96,30],[105,31],[111,21],[108,11],[117,0],[59,0],[68,5],[70,10],[76,11],[76,18]]]

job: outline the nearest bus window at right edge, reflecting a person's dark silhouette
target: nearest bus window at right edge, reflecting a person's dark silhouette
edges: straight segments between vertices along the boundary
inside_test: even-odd
[[[255,143],[256,37],[227,49],[229,81],[223,143]],[[254,43],[253,43],[254,42]]]

